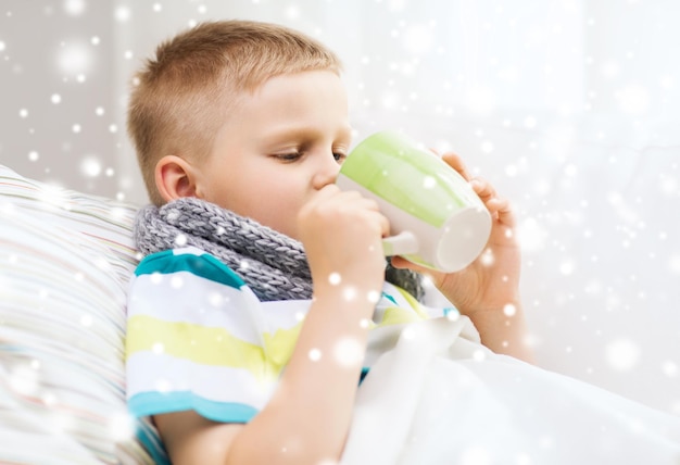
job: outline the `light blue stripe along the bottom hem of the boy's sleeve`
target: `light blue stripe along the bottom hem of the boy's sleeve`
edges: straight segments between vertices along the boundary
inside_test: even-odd
[[[257,414],[257,410],[250,405],[210,401],[191,391],[141,392],[133,395],[127,406],[136,417],[192,410],[219,423],[248,423]]]

